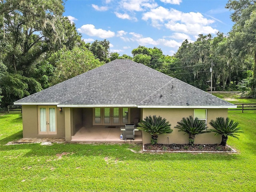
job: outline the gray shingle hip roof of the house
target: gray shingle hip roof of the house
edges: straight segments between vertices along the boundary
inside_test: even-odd
[[[58,106],[188,107],[187,103],[190,107],[234,106],[131,60],[114,60],[15,102],[38,103]]]

